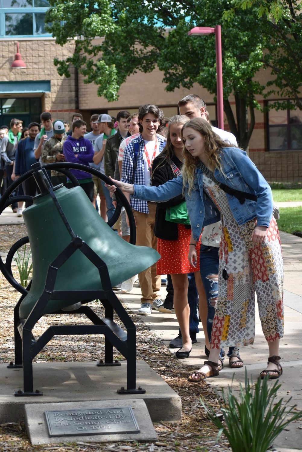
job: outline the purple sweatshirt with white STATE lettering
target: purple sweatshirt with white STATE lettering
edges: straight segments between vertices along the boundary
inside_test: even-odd
[[[80,163],[81,165],[86,165],[89,168],[89,163],[92,162],[94,155],[92,144],[86,138],[80,138],[76,140],[71,136],[67,137],[67,140],[63,143],[63,154],[67,162]],[[75,157],[74,155],[78,156]],[[72,174],[80,181],[81,179],[91,179],[92,176],[89,173],[79,170],[70,170]]]

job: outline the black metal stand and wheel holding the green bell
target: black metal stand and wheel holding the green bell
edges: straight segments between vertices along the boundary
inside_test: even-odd
[[[54,166],[53,166],[54,165]],[[23,382],[24,382],[24,391],[19,389],[14,392],[15,396],[41,396],[43,395],[42,391],[34,391],[33,390],[33,359],[37,356],[37,354],[45,347],[46,344],[53,338],[55,335],[86,335],[86,334],[104,334],[105,336],[105,350],[104,350],[104,359],[100,360],[96,366],[99,367],[114,367],[121,366],[121,363],[118,360],[114,360],[113,358],[113,348],[115,347],[122,356],[127,360],[127,367],[131,369],[131,372],[127,372],[127,387],[134,388],[133,390],[125,390],[124,387],[120,388],[118,391],[119,394],[143,394],[145,391],[142,388],[135,389],[136,387],[136,328],[133,320],[128,315],[125,308],[122,306],[120,300],[116,297],[115,293],[112,291],[112,284],[110,282],[110,275],[107,264],[101,257],[96,253],[95,250],[91,248],[91,246],[86,243],[81,237],[79,237],[73,230],[72,226],[67,220],[65,213],[62,210],[62,206],[58,201],[56,196],[57,188],[60,186],[53,187],[50,179],[48,178],[48,174],[46,173],[46,169],[58,169],[58,166],[61,168],[62,173],[67,175],[68,178],[72,181],[72,183],[76,186],[79,185],[75,176],[70,172],[70,169],[83,170],[90,174],[94,174],[99,179],[104,180],[106,183],[110,183],[110,180],[106,178],[106,176],[102,175],[99,171],[86,167],[85,165],[79,165],[75,163],[60,163],[60,164],[50,164],[45,168],[41,167],[39,163],[32,165],[32,170],[20,176],[18,181],[14,181],[10,187],[6,190],[5,194],[0,199],[0,214],[3,212],[5,207],[9,206],[14,201],[27,201],[30,204],[33,203],[33,198],[29,196],[21,196],[21,197],[10,197],[13,193],[14,189],[17,188],[23,181],[26,179],[34,178],[37,186],[38,186],[38,196],[48,196],[49,199],[52,200],[56,211],[58,212],[61,220],[62,227],[64,227],[64,231],[68,232],[70,235],[70,241],[67,239],[66,246],[58,256],[52,259],[52,262],[48,265],[47,274],[41,275],[45,278],[45,286],[44,291],[40,294],[32,294],[33,297],[36,298],[34,306],[32,306],[32,310],[29,315],[26,315],[26,318],[21,318],[19,316],[19,307],[21,306],[24,297],[26,297],[32,287],[31,282],[26,287],[22,287],[13,277],[13,273],[11,270],[11,265],[13,261],[14,254],[19,248],[27,243],[29,243],[29,237],[24,237],[18,240],[11,248],[9,253],[7,254],[7,258],[5,264],[0,257],[0,271],[4,274],[5,278],[10,282],[10,284],[17,289],[22,297],[19,299],[17,305],[14,308],[14,345],[15,345],[15,355],[14,362],[10,362],[7,366],[8,368],[17,369],[23,368]],[[118,188],[116,191],[117,196],[117,206],[115,209],[115,215],[111,218],[111,224],[108,223],[108,226],[114,225],[115,221],[117,221],[120,216],[120,211],[122,206],[125,207],[125,210],[128,214],[130,220],[130,244],[135,245],[135,220],[127,199],[123,195],[123,193]],[[88,203],[89,201],[87,201]],[[88,205],[88,204],[87,204]],[[60,227],[61,227],[60,226]],[[109,240],[109,239],[108,239]],[[92,241],[94,243],[94,241]],[[100,281],[96,280],[95,286],[102,287],[87,290],[86,286],[83,290],[56,290],[56,278],[60,268],[67,263],[68,259],[72,257],[74,253],[81,252],[86,258],[93,264],[93,266],[97,269]],[[34,261],[33,256],[33,261]],[[119,260],[118,260],[119,261]],[[68,265],[68,264],[66,264]],[[89,270],[90,271],[90,270]],[[38,320],[43,315],[43,312],[46,310],[48,306],[48,302],[50,300],[68,300],[68,306],[72,304],[72,301],[81,301],[82,303],[88,303],[92,300],[100,300],[103,307],[105,308],[105,317],[101,319],[89,306],[80,307],[76,313],[84,314],[88,319],[91,320],[92,325],[51,325],[47,330],[38,338],[35,339],[32,334],[32,330],[34,329],[34,325],[38,322]],[[31,301],[32,302],[32,301]],[[48,311],[48,309],[47,309]],[[59,309],[55,313],[68,313],[74,314],[74,311],[62,311]],[[114,321],[114,315],[118,315],[120,318],[122,326],[118,325]],[[125,330],[123,329],[125,327]],[[105,362],[104,362],[105,361]]]

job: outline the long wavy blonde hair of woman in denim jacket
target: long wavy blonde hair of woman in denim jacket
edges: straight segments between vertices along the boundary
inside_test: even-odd
[[[230,147],[230,143],[221,140],[221,138],[212,130],[211,124],[202,118],[194,118],[186,122],[182,127],[182,133],[185,128],[190,127],[196,130],[205,137],[206,156],[208,158],[208,167],[211,171],[217,168],[222,173],[222,167],[220,163],[220,154],[223,147]],[[183,140],[183,138],[182,138]],[[183,184],[188,184],[188,193],[190,193],[194,187],[194,179],[197,164],[199,163],[198,157],[193,157],[186,147],[183,151],[184,163],[182,166],[182,178]]]

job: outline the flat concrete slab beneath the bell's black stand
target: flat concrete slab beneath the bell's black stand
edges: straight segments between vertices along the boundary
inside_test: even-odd
[[[144,400],[153,422],[181,419],[179,395],[144,361],[137,361],[136,386],[145,394],[118,395],[126,386],[126,361],[120,367],[96,367],[96,363],[34,363],[34,390],[42,397],[15,397],[23,389],[23,369],[0,365],[0,424],[17,422],[24,414],[24,405],[91,400]]]

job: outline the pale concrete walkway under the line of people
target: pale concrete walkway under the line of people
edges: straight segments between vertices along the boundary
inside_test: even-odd
[[[284,207],[290,207],[293,203],[286,204]],[[16,214],[11,212],[10,208],[5,209],[5,212],[0,216],[0,225],[22,222],[23,218],[18,218]],[[280,236],[284,260],[285,335],[280,341],[283,375],[279,379],[281,388],[278,393],[285,400],[292,396],[290,404],[296,404],[297,409],[302,410],[302,238],[284,232],[281,232]],[[134,287],[131,293],[120,295],[120,298],[137,314],[140,306],[140,295],[139,287]],[[164,298],[165,296],[166,290],[165,287],[162,287],[162,297]],[[161,314],[158,311],[152,311],[152,315],[142,316],[142,320],[144,320],[150,330],[155,331],[167,346],[170,340],[178,334],[175,314]],[[188,368],[188,376],[194,370],[199,369],[203,361],[207,359],[204,354],[204,345],[204,334],[200,324],[197,344],[193,345],[190,357],[182,360],[182,363]],[[170,351],[174,354],[176,350],[171,349]],[[266,367],[268,350],[258,315],[256,315],[254,344],[242,348],[240,355],[244,360],[243,368],[234,372],[228,366],[227,360],[225,360],[225,368],[221,371],[220,376],[208,379],[208,384],[218,390],[221,387],[227,388],[228,385],[233,385],[234,390],[238,391],[239,383],[244,382],[245,368],[249,379],[252,378],[255,381],[259,376],[259,372]],[[232,383],[234,373],[235,378]],[[190,383],[188,383],[188,388],[190,387],[189,385]],[[274,447],[279,452],[302,451],[302,420],[290,424],[287,430],[278,436]]]

